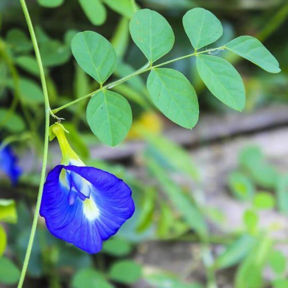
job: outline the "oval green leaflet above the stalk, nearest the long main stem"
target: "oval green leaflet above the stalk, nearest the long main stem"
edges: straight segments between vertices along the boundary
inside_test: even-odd
[[[113,46],[96,32],[77,33],[71,41],[71,49],[79,66],[100,84],[103,84],[116,68]]]

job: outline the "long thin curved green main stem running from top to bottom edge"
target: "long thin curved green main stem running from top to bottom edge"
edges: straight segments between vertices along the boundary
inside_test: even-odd
[[[44,69],[41,61],[41,56],[39,52],[39,47],[37,43],[37,39],[35,36],[35,32],[33,29],[33,25],[31,22],[31,18],[25,3],[25,0],[20,0],[22,10],[29,28],[31,40],[33,43],[37,63],[39,66],[40,70],[40,79],[41,79],[41,84],[42,84],[42,90],[43,90],[43,95],[44,95],[44,104],[45,104],[45,137],[44,137],[44,148],[43,148],[43,162],[42,162],[42,170],[41,170],[41,179],[39,183],[39,191],[38,191],[38,197],[37,197],[37,202],[36,202],[36,207],[35,207],[35,213],[34,213],[34,218],[33,218],[33,223],[32,223],[32,228],[31,228],[31,233],[29,237],[29,242],[24,258],[24,263],[22,267],[22,271],[20,274],[20,279],[18,283],[18,288],[21,288],[24,282],[25,274],[27,271],[31,251],[32,251],[32,246],[33,246],[33,241],[35,237],[35,232],[36,232],[36,227],[37,227],[37,221],[39,218],[39,210],[40,210],[40,204],[41,204],[41,199],[42,199],[42,193],[43,193],[43,187],[44,187],[44,181],[45,181],[45,173],[46,173],[46,166],[47,166],[47,157],[48,157],[48,144],[49,144],[49,117],[50,117],[50,105],[49,105],[49,98],[48,98],[48,91],[47,91],[47,86],[46,86],[46,81],[45,81],[45,74],[44,74]]]

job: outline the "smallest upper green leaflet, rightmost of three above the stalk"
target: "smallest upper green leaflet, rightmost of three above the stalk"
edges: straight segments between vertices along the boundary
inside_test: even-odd
[[[203,8],[194,8],[183,16],[184,30],[195,49],[214,43],[223,34],[218,18]]]

